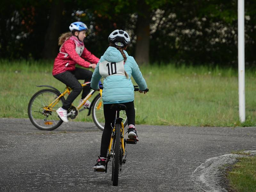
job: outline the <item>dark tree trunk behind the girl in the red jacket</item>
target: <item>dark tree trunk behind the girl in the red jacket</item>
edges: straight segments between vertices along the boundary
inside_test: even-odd
[[[59,0],[52,2],[50,21],[44,37],[44,50],[42,52],[44,59],[54,59],[59,52],[58,38],[63,8],[64,3]]]

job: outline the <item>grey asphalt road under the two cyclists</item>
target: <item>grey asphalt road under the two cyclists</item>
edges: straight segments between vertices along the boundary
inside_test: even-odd
[[[207,159],[256,149],[256,128],[138,125],[117,187],[92,169],[102,131],[70,122],[37,130],[28,119],[0,118],[0,191],[204,191],[193,172]],[[126,136],[127,137],[127,136]],[[216,178],[222,180],[223,178]]]

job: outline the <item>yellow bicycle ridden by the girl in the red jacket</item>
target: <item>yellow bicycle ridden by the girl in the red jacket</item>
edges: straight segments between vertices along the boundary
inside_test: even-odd
[[[84,86],[90,86],[91,82],[86,82],[81,84]],[[101,82],[99,83],[102,85]],[[63,121],[60,119],[56,110],[63,105],[65,101],[65,95],[69,94],[72,89],[66,87],[64,92],[60,92],[55,87],[50,85],[39,85],[37,87],[48,87],[50,89],[42,89],[36,92],[30,99],[28,103],[28,117],[31,123],[40,130],[54,130],[58,128]],[[79,112],[84,109],[88,109],[89,116],[92,113],[92,119],[95,125],[100,129],[104,130],[105,118],[103,113],[103,102],[101,98],[102,90],[100,93],[92,100],[90,108],[84,108],[84,103],[92,97],[95,91],[92,90],[88,95],[79,103],[77,107],[71,105],[68,109],[68,118],[75,119]],[[127,125],[127,117],[124,111],[124,126]]]

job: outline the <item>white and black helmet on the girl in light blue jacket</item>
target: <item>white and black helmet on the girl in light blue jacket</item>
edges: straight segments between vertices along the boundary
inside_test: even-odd
[[[116,29],[108,36],[108,42],[119,47],[124,47],[130,44],[131,40],[126,31]]]

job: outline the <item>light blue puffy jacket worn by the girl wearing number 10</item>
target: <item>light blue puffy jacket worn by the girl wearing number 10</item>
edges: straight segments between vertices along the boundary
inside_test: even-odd
[[[121,75],[111,75],[107,76],[103,81],[103,92],[102,100],[103,104],[110,103],[125,103],[134,100],[134,88],[131,80],[131,76],[135,82],[139,85],[141,91],[147,89],[147,84],[143,78],[139,66],[132,56],[129,56],[126,51],[124,51],[127,60],[124,64],[124,70],[128,74],[129,78]],[[99,63],[97,64],[91,80],[91,87],[94,90],[99,89],[99,81],[101,78],[99,72],[100,62],[120,62],[124,60],[121,52],[115,47],[108,47],[106,52],[101,56]]]

